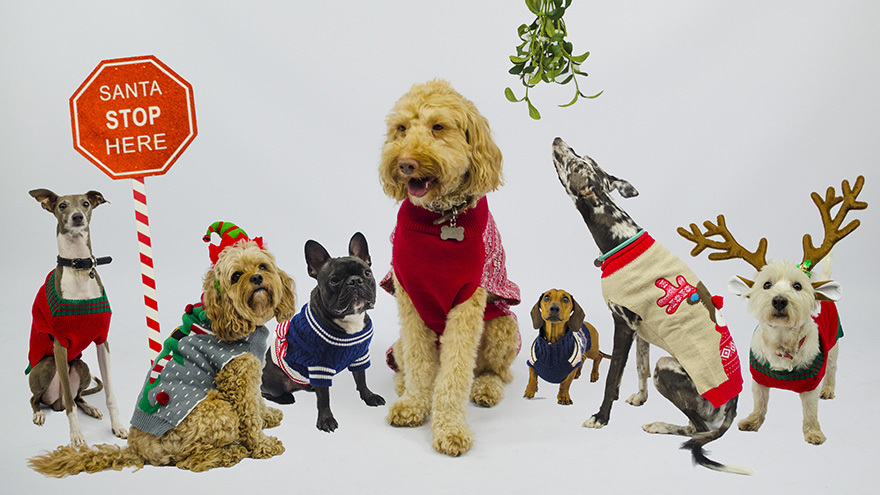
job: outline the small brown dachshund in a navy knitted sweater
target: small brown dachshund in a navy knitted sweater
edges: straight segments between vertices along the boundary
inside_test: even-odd
[[[611,356],[599,350],[599,332],[584,321],[585,316],[581,305],[568,292],[550,289],[541,294],[531,311],[532,326],[538,330],[538,336],[527,361],[529,383],[523,397],[535,397],[540,376],[559,384],[558,404],[573,404],[569,387],[581,376],[587,359],[593,361],[590,382],[599,380],[599,363]]]

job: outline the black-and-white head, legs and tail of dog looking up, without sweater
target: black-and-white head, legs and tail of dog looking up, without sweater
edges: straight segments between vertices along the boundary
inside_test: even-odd
[[[556,172],[565,191],[574,200],[575,207],[581,213],[584,222],[593,235],[593,239],[599,250],[603,253],[596,260],[596,266],[602,266],[607,256],[617,252],[621,246],[632,242],[637,238],[642,229],[633,219],[618,206],[611,197],[611,192],[617,190],[624,198],[638,195],[638,191],[629,182],[607,174],[588,156],[578,156],[562,139],[553,141],[553,163]],[[671,255],[673,256],[674,255]],[[635,283],[635,282],[633,282]],[[694,282],[696,283],[696,282]],[[603,293],[605,286],[603,284]],[[661,291],[662,295],[662,291]],[[650,297],[650,296],[648,296]],[[656,299],[656,297],[654,297]],[[712,323],[723,325],[720,312],[708,303],[711,295],[702,283],[694,287],[693,298],[695,301],[702,299],[707,307],[708,315]],[[611,406],[618,399],[620,381],[623,375],[626,360],[629,355],[633,339],[637,340],[637,369],[639,376],[639,391],[633,394],[627,402],[639,406],[647,400],[647,378],[649,375],[649,340],[656,343],[656,338],[651,338],[649,328],[651,325],[643,324],[643,315],[639,310],[616,304],[608,300],[606,302],[611,310],[614,320],[614,350],[611,364],[605,382],[605,396],[599,412],[591,416],[583,426],[589,428],[601,428],[608,424],[611,415]],[[687,304],[682,305],[684,307]],[[695,302],[694,304],[699,304]],[[702,314],[706,314],[703,311]],[[644,317],[649,317],[645,313]],[[647,340],[646,340],[647,339]],[[659,345],[659,344],[658,344]],[[731,342],[732,346],[732,342]],[[669,349],[667,349],[669,351]],[[714,352],[718,351],[718,347]],[[734,350],[735,352],[735,350]],[[683,449],[689,449],[695,463],[710,469],[734,472],[738,474],[751,474],[746,468],[723,465],[708,459],[705,456],[703,446],[715,440],[730,427],[736,416],[736,404],[738,391],[734,389],[733,397],[725,399],[726,402],[719,407],[700,395],[694,381],[685,371],[684,367],[673,357],[663,357],[657,361],[654,371],[654,385],[657,390],[678,407],[689,419],[687,426],[676,426],[668,423],[657,422],[644,425],[642,428],[649,433],[666,433],[691,437],[682,445]],[[739,374],[738,358],[736,373]],[[738,375],[739,376],[739,375]],[[742,388],[742,379],[739,376],[739,389]]]

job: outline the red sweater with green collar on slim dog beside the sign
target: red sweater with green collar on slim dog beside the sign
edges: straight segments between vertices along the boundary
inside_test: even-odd
[[[63,299],[55,291],[55,270],[49,272],[37,292],[31,310],[30,346],[25,374],[46,356],[54,354],[53,341],[67,349],[68,362],[80,357],[93,342],[103,344],[110,331],[107,292],[94,299]]]

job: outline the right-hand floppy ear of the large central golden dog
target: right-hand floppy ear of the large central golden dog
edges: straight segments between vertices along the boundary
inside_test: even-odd
[[[501,150],[492,140],[489,121],[480,115],[473,103],[466,104],[465,140],[471,149],[471,170],[464,187],[468,194],[483,197],[503,183]]]

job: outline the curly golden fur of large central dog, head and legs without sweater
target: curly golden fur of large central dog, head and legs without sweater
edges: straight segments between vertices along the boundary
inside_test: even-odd
[[[387,126],[379,172],[389,197],[449,216],[502,184],[501,152],[488,121],[445,81],[414,85],[392,108]],[[496,296],[480,287],[448,312],[438,346],[437,334],[396,276],[394,294],[401,323],[395,388],[401,397],[387,421],[415,427],[430,415],[434,449],[461,455],[473,443],[468,396],[494,406],[512,379],[510,365],[519,350],[516,320],[505,315],[484,323],[486,305]]]

